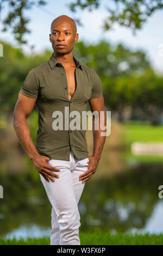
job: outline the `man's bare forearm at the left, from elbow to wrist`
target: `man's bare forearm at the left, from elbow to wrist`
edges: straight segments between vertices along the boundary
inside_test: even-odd
[[[30,160],[33,160],[39,153],[32,141],[27,119],[25,117],[14,118],[13,125],[23,149],[28,154]]]

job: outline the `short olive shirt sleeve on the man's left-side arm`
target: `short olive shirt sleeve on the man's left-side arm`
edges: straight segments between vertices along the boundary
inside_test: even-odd
[[[37,95],[39,94],[39,83],[36,80],[34,71],[30,70],[28,72],[19,93],[37,99]]]

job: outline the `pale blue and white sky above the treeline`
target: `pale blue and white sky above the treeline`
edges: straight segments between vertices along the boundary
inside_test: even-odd
[[[98,9],[89,11],[78,8],[76,13],[73,13],[68,8],[70,1],[47,0],[47,2],[48,4],[44,7],[34,7],[25,13],[30,19],[28,28],[31,30],[31,33],[25,36],[28,44],[22,47],[24,52],[29,53],[31,45],[34,45],[35,52],[42,52],[45,49],[52,50],[52,45],[49,41],[51,23],[56,17],[67,15],[72,17],[72,19],[79,18],[83,23],[83,26],[77,24],[78,41],[83,40],[87,44],[97,44],[100,40],[106,40],[113,46],[122,43],[131,50],[143,50],[146,52],[147,58],[151,61],[155,71],[162,74],[163,51],[160,50],[163,49],[161,33],[163,9],[156,11],[149,17],[142,29],[136,31],[136,35],[134,35],[130,28],[122,27],[117,23],[112,31],[103,31],[102,24],[108,14],[106,7],[108,7],[111,1],[101,0],[101,5]],[[72,0],[72,2],[74,1]],[[7,8],[3,10],[2,17],[6,11]],[[0,25],[1,28],[2,25]],[[10,42],[10,44],[17,47],[17,42],[10,29],[6,33],[1,32],[0,40]]]

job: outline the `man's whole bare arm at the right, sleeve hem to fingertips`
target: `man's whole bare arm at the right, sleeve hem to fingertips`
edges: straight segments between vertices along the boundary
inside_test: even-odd
[[[106,112],[105,112],[105,106],[104,106],[104,98],[103,95],[101,95],[98,98],[90,99],[90,107],[91,111],[97,111],[98,116],[96,116],[92,119],[92,132],[93,132],[93,154],[92,156],[88,156],[89,159],[89,169],[86,170],[85,173],[79,176],[79,180],[83,180],[82,182],[85,182],[91,178],[93,173],[96,172],[98,162],[101,159],[102,150],[105,143],[106,136],[101,136],[101,132],[106,132],[104,130],[101,130],[100,123],[102,122],[103,126],[106,126]],[[104,111],[104,115],[100,114],[100,111]],[[103,118],[104,117],[104,118]],[[95,130],[95,122],[98,122],[98,130]]]

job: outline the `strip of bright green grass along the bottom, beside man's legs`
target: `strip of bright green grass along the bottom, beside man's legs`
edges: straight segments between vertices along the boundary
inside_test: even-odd
[[[112,234],[110,231],[80,232],[81,245],[163,245],[163,234]],[[50,245],[49,237],[30,238],[27,240],[5,239],[0,240],[0,245]]]

